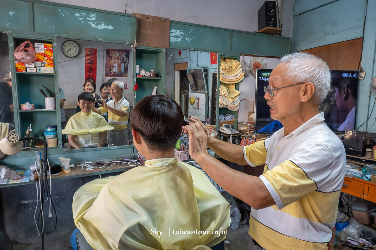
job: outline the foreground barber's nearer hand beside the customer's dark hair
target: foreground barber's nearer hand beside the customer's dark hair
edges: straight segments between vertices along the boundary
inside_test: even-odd
[[[189,154],[196,160],[201,154],[208,154],[208,133],[206,133],[199,123],[189,123],[183,126],[184,133],[188,133]]]

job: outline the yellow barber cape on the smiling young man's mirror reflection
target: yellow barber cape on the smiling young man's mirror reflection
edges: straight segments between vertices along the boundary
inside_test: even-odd
[[[114,127],[108,125],[102,115],[92,111],[89,113],[81,111],[74,114],[69,119],[67,126],[65,126],[65,129],[61,130],[61,133],[63,135],[86,135],[112,129],[114,129]]]

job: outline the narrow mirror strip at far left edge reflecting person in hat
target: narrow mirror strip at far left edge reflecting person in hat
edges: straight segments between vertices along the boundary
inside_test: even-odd
[[[0,33],[0,123],[9,123],[14,129],[11,65],[9,63],[8,34]],[[1,138],[0,138],[1,139]]]

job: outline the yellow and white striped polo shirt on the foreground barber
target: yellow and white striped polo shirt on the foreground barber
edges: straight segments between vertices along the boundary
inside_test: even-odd
[[[260,178],[276,202],[251,209],[249,235],[267,250],[327,249],[346,172],[343,144],[323,112],[283,135],[244,147],[249,165],[265,163]]]

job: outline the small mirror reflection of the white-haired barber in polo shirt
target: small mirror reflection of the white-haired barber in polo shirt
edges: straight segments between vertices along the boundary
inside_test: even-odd
[[[102,102],[100,108],[92,108],[92,111],[100,115],[108,112],[108,124],[114,127],[114,130],[107,132],[109,146],[127,145],[129,102],[123,96],[124,83],[119,80],[114,81],[108,91],[113,99],[107,103],[105,100],[99,99]]]

